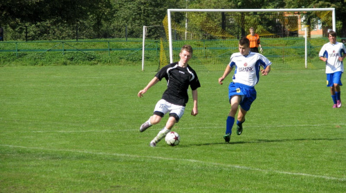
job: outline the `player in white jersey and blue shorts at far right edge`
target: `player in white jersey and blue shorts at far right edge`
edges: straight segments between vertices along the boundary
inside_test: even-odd
[[[327,87],[330,88],[333,108],[341,107],[341,75],[344,72],[343,59],[346,57],[346,48],[343,43],[336,41],[336,32],[328,32],[329,42],[322,46],[318,56],[325,62],[325,73],[327,74]]]

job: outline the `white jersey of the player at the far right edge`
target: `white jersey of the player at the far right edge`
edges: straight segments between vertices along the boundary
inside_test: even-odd
[[[346,48],[343,43],[336,42],[335,44],[326,43],[322,46],[319,57],[327,58],[325,73],[331,74],[334,72],[344,72],[343,62],[339,61],[339,57],[343,57],[346,53]]]

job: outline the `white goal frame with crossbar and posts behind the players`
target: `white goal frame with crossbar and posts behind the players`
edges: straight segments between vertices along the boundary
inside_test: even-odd
[[[311,12],[331,11],[333,30],[336,31],[335,8],[295,8],[295,9],[168,9],[168,41],[170,46],[170,63],[173,63],[171,12]],[[305,30],[305,68],[307,68],[307,30]]]

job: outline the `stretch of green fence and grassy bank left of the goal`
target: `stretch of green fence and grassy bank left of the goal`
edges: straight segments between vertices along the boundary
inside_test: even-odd
[[[142,40],[99,40],[99,41],[3,41],[0,42],[1,65],[30,60],[30,65],[45,65],[43,62],[135,65],[142,60]],[[147,60],[157,61],[160,42],[147,41]],[[37,62],[35,62],[37,61]],[[157,62],[155,62],[157,64]]]

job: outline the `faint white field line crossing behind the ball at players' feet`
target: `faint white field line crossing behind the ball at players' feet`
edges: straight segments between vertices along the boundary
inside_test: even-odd
[[[323,127],[323,126],[330,126],[331,124],[316,124],[316,125],[249,125],[246,126],[247,128],[295,128],[295,127]],[[333,125],[346,125],[346,123],[334,123]],[[203,129],[224,129],[224,125],[217,126],[217,125],[210,125],[210,126],[204,126],[204,127],[198,127],[199,130]],[[179,127],[179,130],[194,130],[197,129],[196,127],[190,127],[190,128],[181,128]],[[73,132],[131,132],[131,131],[139,131],[138,129],[126,129],[126,130],[32,130],[32,131],[19,131],[19,133],[47,133],[47,132],[57,132],[57,133],[73,133]],[[17,131],[3,131],[6,133],[12,133]]]

